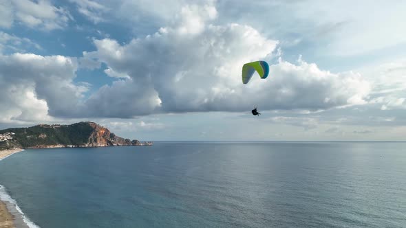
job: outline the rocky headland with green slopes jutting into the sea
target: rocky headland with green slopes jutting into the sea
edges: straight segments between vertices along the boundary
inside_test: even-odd
[[[29,128],[0,130],[0,149],[151,145],[151,142],[118,137],[94,122],[70,125],[39,124]]]

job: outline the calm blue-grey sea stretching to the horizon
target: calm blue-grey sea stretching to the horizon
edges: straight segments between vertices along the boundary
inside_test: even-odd
[[[406,227],[405,143],[26,150],[0,183],[42,228]]]

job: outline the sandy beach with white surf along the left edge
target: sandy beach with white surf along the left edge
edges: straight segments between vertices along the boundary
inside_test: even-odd
[[[0,150],[0,161],[21,152],[21,148]],[[6,187],[0,185],[0,228],[31,228],[38,227],[21,211],[17,202],[7,193]]]

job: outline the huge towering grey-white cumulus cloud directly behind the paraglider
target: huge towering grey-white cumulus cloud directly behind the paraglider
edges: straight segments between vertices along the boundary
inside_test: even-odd
[[[242,84],[241,66],[270,58],[278,41],[265,38],[248,25],[217,25],[216,18],[213,5],[189,5],[182,8],[173,25],[145,38],[124,45],[109,38],[95,40],[97,50],[87,56],[105,62],[109,67],[106,73],[114,69],[131,80],[103,88],[92,96],[92,103],[107,106],[109,97],[108,105],[115,108],[105,115],[123,109],[123,100],[147,104],[143,108],[125,107],[120,112],[125,116],[246,111],[253,105],[262,110],[317,111],[365,104],[370,84],[359,73],[331,73],[303,60],[297,65],[281,60],[270,66],[267,80],[253,78]]]

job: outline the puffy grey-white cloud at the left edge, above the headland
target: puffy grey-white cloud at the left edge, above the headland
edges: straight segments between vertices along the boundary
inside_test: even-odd
[[[0,106],[5,119],[47,119],[78,115],[88,84],[75,84],[77,63],[65,56],[0,56]],[[5,121],[3,119],[3,121]]]

